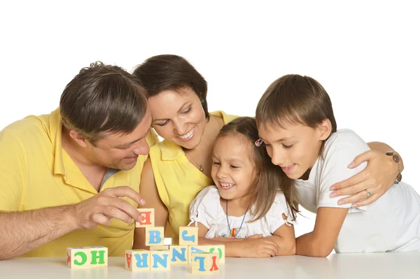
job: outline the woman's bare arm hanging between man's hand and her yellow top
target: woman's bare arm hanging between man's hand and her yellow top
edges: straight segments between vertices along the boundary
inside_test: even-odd
[[[155,208],[155,227],[166,227],[169,216],[168,209],[160,199],[150,158],[144,162],[143,171],[141,171],[140,195],[145,201],[141,208]],[[133,249],[148,249],[144,228],[134,229]]]

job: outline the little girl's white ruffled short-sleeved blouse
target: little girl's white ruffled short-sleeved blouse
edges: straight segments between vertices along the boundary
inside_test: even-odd
[[[228,208],[229,210],[229,208]],[[241,222],[244,219],[237,238],[245,238],[253,234],[262,234],[263,236],[272,236],[276,229],[279,229],[283,224],[294,224],[288,214],[286,199],[283,193],[276,194],[274,203],[269,209],[268,213],[259,220],[248,222],[251,220],[250,210],[244,216],[228,216],[230,229],[241,227]],[[283,220],[281,213],[286,215],[286,220]],[[200,222],[209,231],[207,231],[206,238],[215,238],[218,236],[230,237],[228,220],[225,211],[221,206],[221,196],[216,186],[209,186],[200,193],[190,204],[190,224]]]

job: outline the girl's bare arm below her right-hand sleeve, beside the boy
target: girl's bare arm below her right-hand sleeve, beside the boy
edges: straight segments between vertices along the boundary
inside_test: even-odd
[[[286,220],[286,215],[282,214],[283,220]],[[273,236],[267,236],[265,239],[274,241],[279,250],[276,252],[276,256],[295,255],[296,253],[296,240],[295,240],[295,228],[293,224],[283,224],[279,229],[274,231]]]

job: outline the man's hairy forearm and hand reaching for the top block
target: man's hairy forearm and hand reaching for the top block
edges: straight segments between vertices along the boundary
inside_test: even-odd
[[[105,189],[80,203],[69,206],[41,208],[24,212],[0,213],[0,259],[17,257],[74,229],[93,229],[109,225],[111,218],[130,224],[141,215],[127,196],[141,203],[141,196],[127,186]]]

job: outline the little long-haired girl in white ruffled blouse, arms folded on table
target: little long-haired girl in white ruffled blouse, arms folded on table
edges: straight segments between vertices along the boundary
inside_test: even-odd
[[[216,186],[202,189],[191,203],[190,226],[199,227],[200,245],[223,243],[226,257],[294,255],[297,209],[287,199],[293,194],[279,192],[286,176],[256,140],[252,117],[221,129],[212,154]]]

